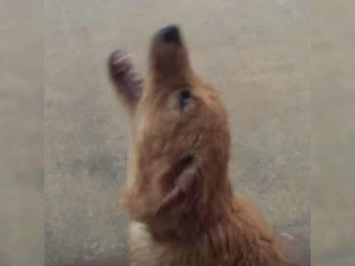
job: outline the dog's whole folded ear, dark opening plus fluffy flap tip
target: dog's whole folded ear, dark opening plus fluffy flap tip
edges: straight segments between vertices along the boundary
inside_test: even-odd
[[[190,202],[184,199],[195,196],[192,190],[198,176],[196,163],[195,157],[187,155],[159,177],[159,184],[136,181],[123,193],[122,206],[133,220],[142,222],[156,223],[179,216]]]

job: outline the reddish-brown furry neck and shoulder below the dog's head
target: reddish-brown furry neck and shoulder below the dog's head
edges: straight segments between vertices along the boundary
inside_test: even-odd
[[[206,209],[194,205],[165,230],[159,223],[149,224],[147,229],[155,244],[174,247],[167,253],[189,261],[195,258],[191,265],[253,265],[250,261],[255,260],[258,265],[291,265],[275,246],[272,234],[249,210],[244,199],[234,197],[230,190],[216,194]]]

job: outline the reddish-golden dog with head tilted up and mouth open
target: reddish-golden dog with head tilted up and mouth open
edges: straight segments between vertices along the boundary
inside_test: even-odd
[[[254,204],[233,194],[228,116],[193,71],[179,27],[154,34],[144,80],[124,51],[108,65],[130,121],[121,199],[131,265],[294,265]]]

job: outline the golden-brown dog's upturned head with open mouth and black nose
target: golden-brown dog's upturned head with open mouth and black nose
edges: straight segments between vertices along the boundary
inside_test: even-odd
[[[123,196],[130,216],[157,234],[212,221],[232,194],[228,118],[192,70],[179,28],[154,35],[144,82],[122,51],[110,56],[109,73],[131,118],[134,174]]]

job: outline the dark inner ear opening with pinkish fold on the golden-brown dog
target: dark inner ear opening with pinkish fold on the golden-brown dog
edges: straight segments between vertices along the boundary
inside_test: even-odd
[[[159,204],[157,213],[164,211],[181,196],[186,196],[193,187],[197,177],[197,165],[192,155],[187,155],[164,174],[161,182],[165,194]]]

